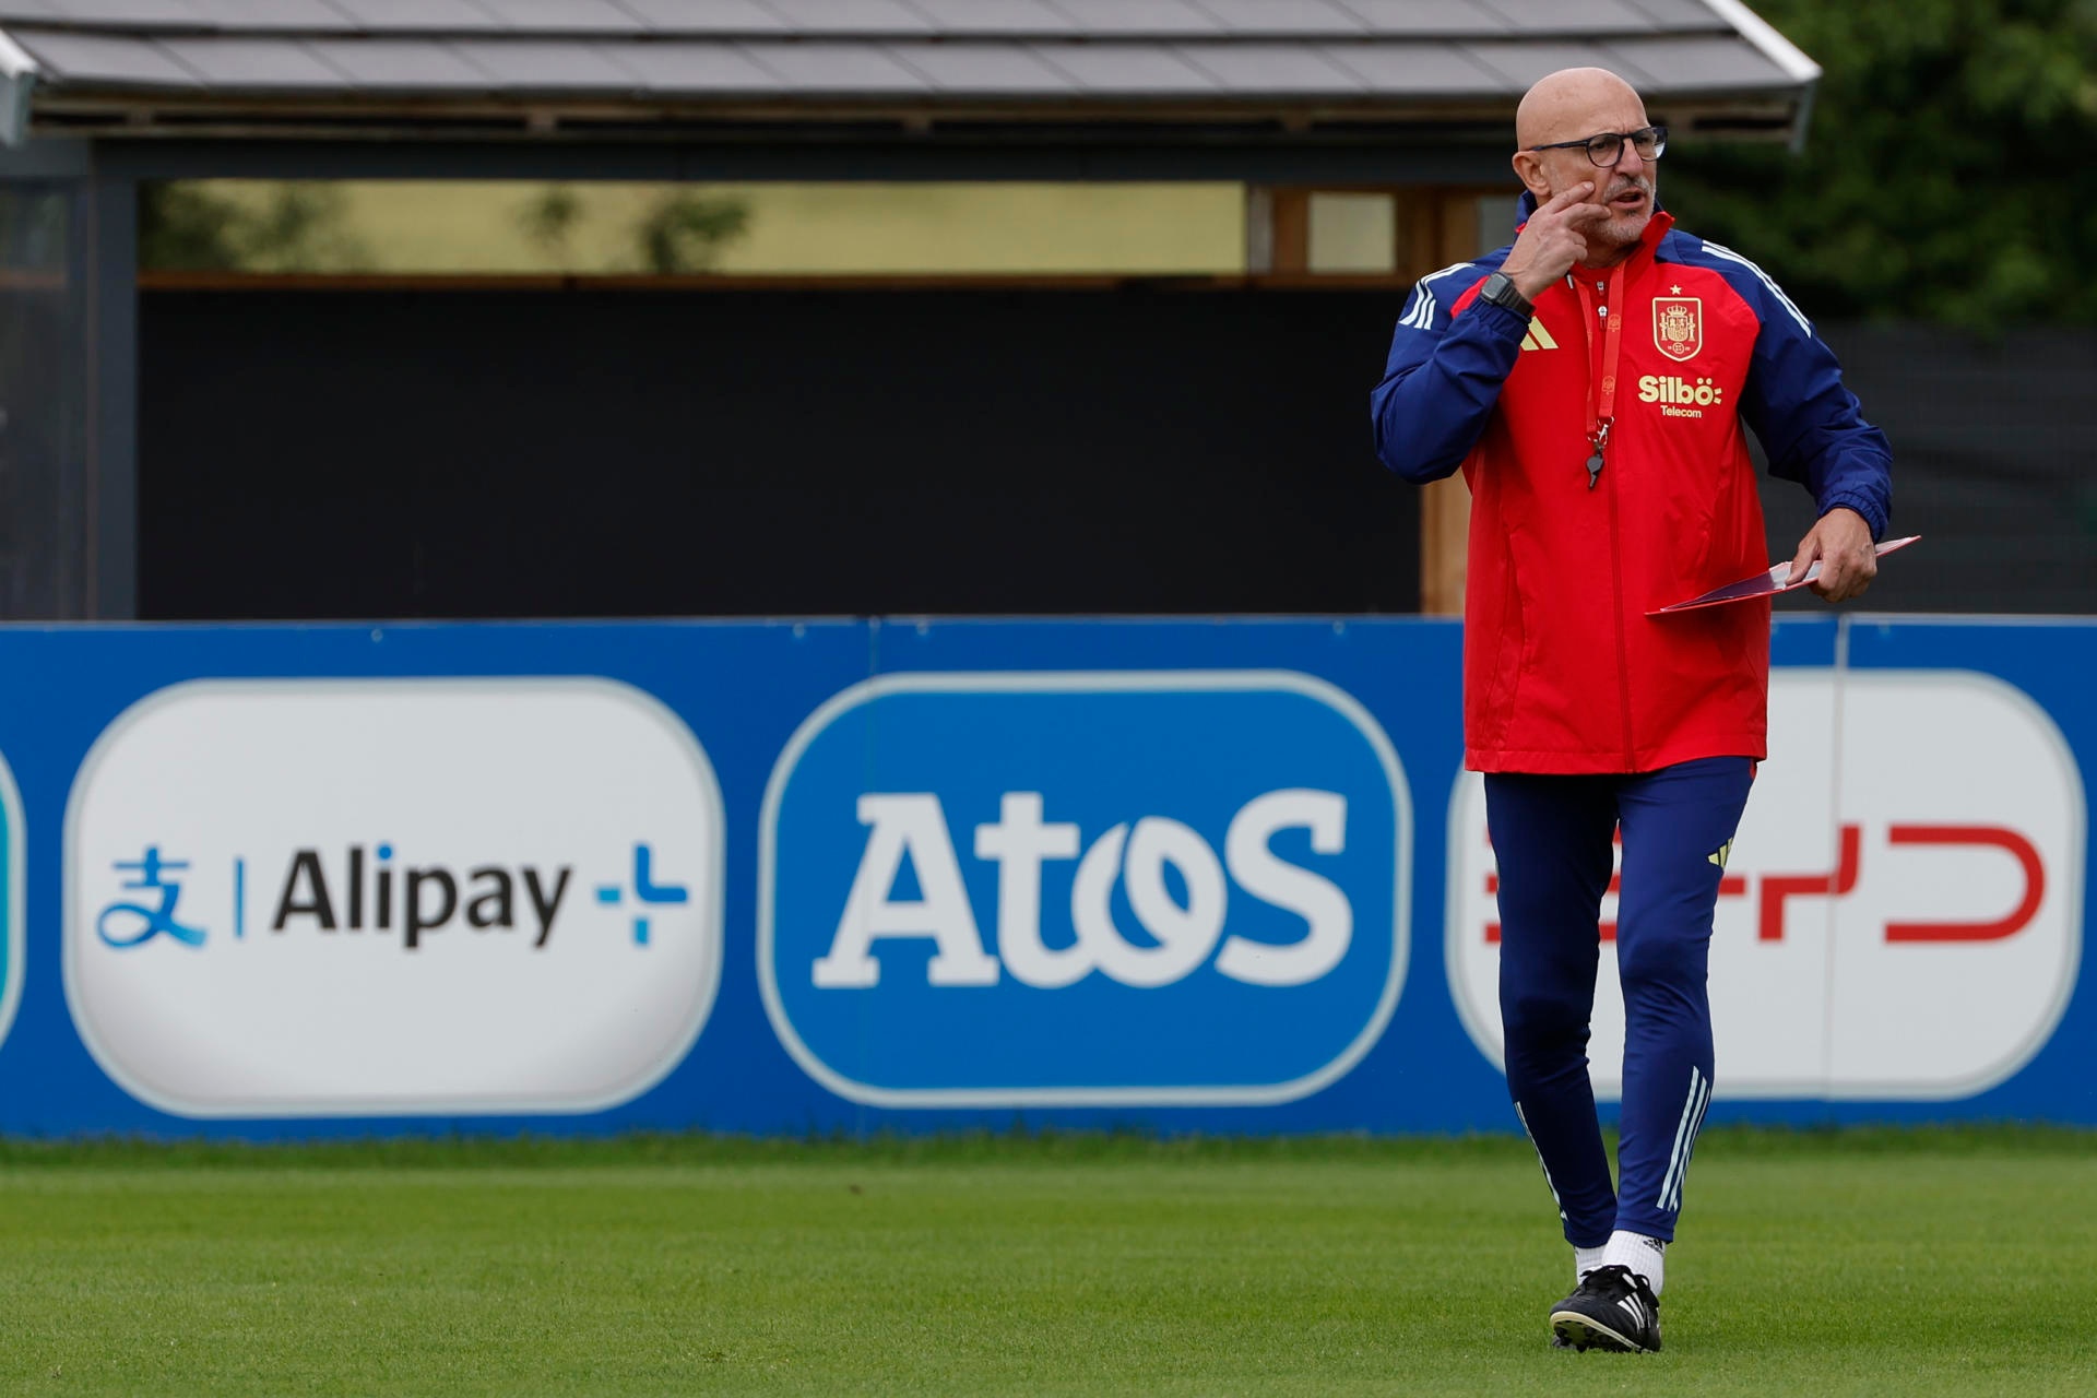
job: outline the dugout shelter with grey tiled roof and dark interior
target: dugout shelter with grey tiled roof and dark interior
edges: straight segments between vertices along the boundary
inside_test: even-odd
[[[1678,138],[1818,80],[1734,0],[0,0],[0,616],[1453,610],[1365,396],[1577,63]],[[195,180],[1208,182],[1241,247],[143,270]]]

